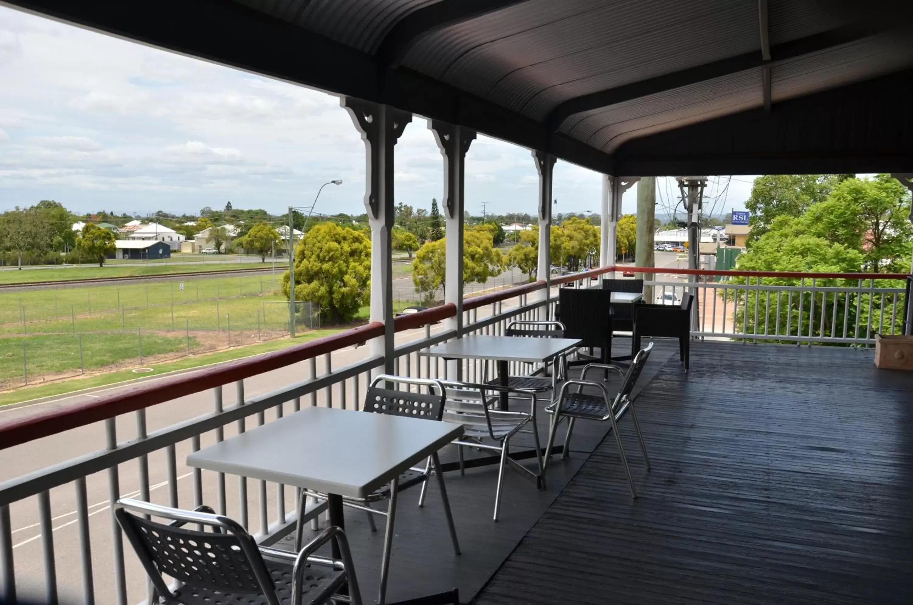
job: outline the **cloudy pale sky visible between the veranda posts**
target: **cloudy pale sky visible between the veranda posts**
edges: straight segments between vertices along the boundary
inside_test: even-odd
[[[231,201],[281,214],[364,212],[364,144],[340,99],[0,6],[0,212],[57,200],[73,212],[197,214]],[[599,212],[600,175],[555,166],[556,213]],[[711,177],[716,214],[742,209],[751,176]],[[416,116],[396,145],[397,203],[429,208],[443,159]],[[729,187],[726,184],[729,183]],[[657,213],[677,195],[657,180]],[[479,135],[466,209],[536,213],[530,151]],[[634,212],[636,187],[623,198]],[[680,210],[679,210],[680,214]]]

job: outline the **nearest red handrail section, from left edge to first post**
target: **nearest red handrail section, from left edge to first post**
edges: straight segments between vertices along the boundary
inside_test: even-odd
[[[310,360],[325,353],[357,345],[383,336],[383,324],[375,321],[340,334],[311,340],[289,349],[263,353],[247,360],[228,361],[154,384],[138,384],[126,391],[102,395],[94,402],[79,403],[62,410],[48,410],[0,423],[0,450],[63,433],[70,429],[100,422],[128,412],[136,412],[158,403],[170,402],[185,395],[213,389],[270,370],[278,370],[298,361]]]

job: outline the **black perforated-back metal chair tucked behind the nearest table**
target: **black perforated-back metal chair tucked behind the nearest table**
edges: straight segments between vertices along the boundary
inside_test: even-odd
[[[399,391],[388,388],[393,384],[405,386],[407,389],[415,387],[415,391]],[[426,392],[417,392],[422,388]],[[435,390],[436,392],[434,392]],[[382,374],[378,376],[368,387],[368,392],[364,397],[363,412],[390,414],[394,416],[407,416],[409,418],[421,418],[428,421],[440,421],[444,415],[444,386],[441,381],[404,378],[402,376],[390,376]],[[425,485],[431,475],[437,478],[437,485],[441,490],[441,500],[444,502],[444,514],[446,516],[447,527],[450,530],[450,539],[453,542],[454,552],[458,555],[459,543],[456,540],[456,528],[454,519],[450,514],[450,502],[447,499],[446,487],[444,485],[444,475],[437,471],[440,468],[440,460],[437,454],[432,454],[424,468],[410,468],[403,475],[396,477],[390,485],[385,485],[371,495],[364,498],[343,497],[342,504],[363,510],[368,514],[368,523],[372,531],[377,531],[374,525],[374,515],[387,517],[387,525],[383,533],[383,560],[381,562],[381,586],[378,602],[383,605],[386,587],[387,575],[390,569],[390,548],[394,537],[394,516],[396,512],[396,496],[415,485]],[[425,489],[419,499],[419,506],[424,504]],[[306,497],[326,500],[326,494],[302,490],[299,510],[305,510]],[[378,510],[372,508],[372,504],[388,500],[387,510]],[[304,519],[299,517],[297,527],[295,528],[295,548],[301,543],[304,531]]]

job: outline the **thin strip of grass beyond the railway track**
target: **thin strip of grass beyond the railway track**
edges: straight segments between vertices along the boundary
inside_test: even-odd
[[[172,263],[170,265],[140,265],[140,261],[133,261],[129,265],[105,266],[61,266],[52,269],[4,269],[0,271],[0,284],[25,284],[37,281],[68,281],[72,279],[90,279],[93,277],[127,277],[127,276],[157,276],[169,273],[190,273],[197,271],[222,271],[232,269],[258,269],[270,266],[262,263]],[[288,269],[286,264],[276,264],[276,272]]]

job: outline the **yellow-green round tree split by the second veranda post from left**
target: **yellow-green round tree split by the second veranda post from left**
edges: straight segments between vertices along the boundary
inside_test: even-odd
[[[415,289],[425,300],[434,297],[437,288],[446,287],[446,237],[425,242],[412,262]],[[488,277],[504,270],[504,256],[493,245],[488,228],[463,230],[463,282],[484,284]]]

